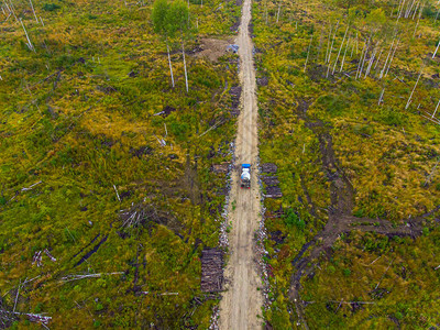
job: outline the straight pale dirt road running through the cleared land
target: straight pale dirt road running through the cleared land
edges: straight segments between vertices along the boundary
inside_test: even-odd
[[[227,292],[220,301],[220,329],[261,329],[263,298],[257,287],[261,279],[256,272],[254,232],[258,228],[260,189],[257,185],[256,157],[257,143],[257,107],[255,95],[255,70],[253,44],[249,35],[251,21],[251,2],[245,0],[239,36],[240,80],[242,85],[241,113],[238,120],[235,140],[235,164],[252,164],[251,189],[241,189],[240,170],[233,173],[230,191],[230,232],[231,257],[226,270]]]

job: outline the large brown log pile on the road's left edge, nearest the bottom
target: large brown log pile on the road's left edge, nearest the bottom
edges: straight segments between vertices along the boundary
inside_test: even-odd
[[[205,293],[221,292],[223,288],[223,251],[217,248],[201,252],[201,283]]]

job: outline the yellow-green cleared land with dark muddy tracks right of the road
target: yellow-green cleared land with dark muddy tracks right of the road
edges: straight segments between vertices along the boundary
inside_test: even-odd
[[[267,327],[438,327],[439,10],[254,3]]]

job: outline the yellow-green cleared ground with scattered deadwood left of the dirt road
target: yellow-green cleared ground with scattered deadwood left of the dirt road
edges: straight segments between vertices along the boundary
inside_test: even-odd
[[[195,54],[240,7],[180,3],[167,43],[152,1],[0,3],[0,328],[209,326],[239,82]]]

